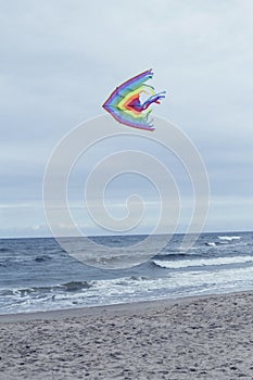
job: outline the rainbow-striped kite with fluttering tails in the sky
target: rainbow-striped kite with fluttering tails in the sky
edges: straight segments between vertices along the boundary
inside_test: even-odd
[[[153,77],[152,69],[135,76],[124,81],[111,93],[104,102],[103,107],[118,123],[134,128],[154,130],[152,121],[149,119],[152,109],[148,107],[152,103],[160,104],[160,100],[165,98],[165,92],[155,93],[152,86],[146,85],[146,81]],[[140,96],[148,96],[148,99],[141,102]]]

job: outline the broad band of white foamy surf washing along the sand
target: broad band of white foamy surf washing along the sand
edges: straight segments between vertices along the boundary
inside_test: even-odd
[[[236,257],[235,257],[236,258]],[[251,257],[252,259],[253,257]],[[180,297],[204,293],[224,293],[252,289],[253,266],[224,270],[189,270],[170,273],[163,278],[129,278],[94,280],[92,287],[76,293],[46,294],[43,297],[20,299],[8,303],[1,313],[59,309],[106,305],[124,302]],[[31,293],[34,294],[34,293]],[[31,296],[30,294],[30,296]],[[22,301],[22,302],[21,302]]]

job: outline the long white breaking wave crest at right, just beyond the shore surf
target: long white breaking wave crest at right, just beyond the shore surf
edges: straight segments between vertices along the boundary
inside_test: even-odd
[[[204,267],[211,265],[229,265],[244,264],[253,262],[253,256],[235,256],[235,257],[212,257],[199,259],[181,259],[178,262],[168,262],[163,259],[153,259],[153,264],[166,269],[180,269],[188,267]]]

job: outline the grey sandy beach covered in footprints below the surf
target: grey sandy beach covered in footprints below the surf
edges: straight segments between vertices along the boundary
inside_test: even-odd
[[[253,379],[253,293],[0,316],[0,379]]]

